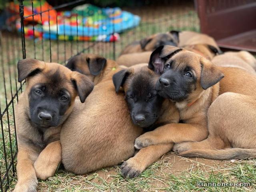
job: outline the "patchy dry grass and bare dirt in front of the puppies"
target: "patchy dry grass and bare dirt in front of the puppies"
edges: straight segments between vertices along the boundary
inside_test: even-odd
[[[174,158],[176,160],[174,160]],[[177,169],[179,164],[186,165]],[[54,177],[39,181],[38,191],[105,192],[105,191],[254,191],[256,164],[249,161],[206,161],[180,158],[168,153],[147,168],[138,178],[124,179],[119,166],[104,168],[87,175],[67,173],[60,167]],[[198,182],[250,183],[249,187],[198,187]],[[15,182],[12,183],[11,189]]]

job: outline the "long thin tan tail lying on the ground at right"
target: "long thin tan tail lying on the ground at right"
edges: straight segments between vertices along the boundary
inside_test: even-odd
[[[226,148],[226,149],[206,149],[206,150],[190,150],[179,154],[184,157],[201,157],[216,160],[228,159],[250,159],[256,158],[256,148],[242,149],[242,148]]]

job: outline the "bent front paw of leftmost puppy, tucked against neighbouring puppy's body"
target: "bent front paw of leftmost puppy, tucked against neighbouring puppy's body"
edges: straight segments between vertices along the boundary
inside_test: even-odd
[[[49,177],[54,176],[57,167],[58,164],[45,164],[45,162],[40,162],[39,160],[36,160],[34,163],[36,177],[41,180],[46,180]]]

